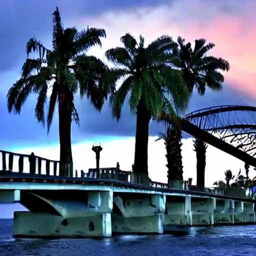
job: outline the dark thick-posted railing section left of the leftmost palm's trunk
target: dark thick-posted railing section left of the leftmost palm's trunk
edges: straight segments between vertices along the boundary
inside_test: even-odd
[[[57,176],[59,174],[59,161],[34,155],[33,152],[20,154],[0,150],[0,173],[8,174],[11,172]]]

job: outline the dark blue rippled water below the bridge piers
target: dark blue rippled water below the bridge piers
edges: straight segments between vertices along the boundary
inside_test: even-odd
[[[102,239],[13,239],[11,233],[12,220],[0,220],[0,256],[255,256],[256,250],[256,225]]]

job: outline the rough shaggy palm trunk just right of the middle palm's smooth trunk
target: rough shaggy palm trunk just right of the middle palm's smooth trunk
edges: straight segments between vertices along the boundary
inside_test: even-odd
[[[174,133],[174,134],[173,134]],[[167,178],[168,184],[173,180],[183,180],[183,170],[182,170],[182,156],[181,156],[181,131],[175,124],[168,125],[165,133],[160,133],[159,139],[163,139],[166,148],[166,160],[167,164]],[[176,148],[177,147],[177,148]],[[171,185],[171,184],[170,184]],[[171,186],[173,187],[173,186]]]

